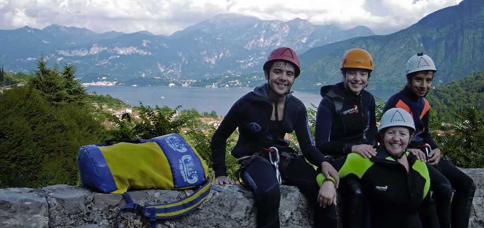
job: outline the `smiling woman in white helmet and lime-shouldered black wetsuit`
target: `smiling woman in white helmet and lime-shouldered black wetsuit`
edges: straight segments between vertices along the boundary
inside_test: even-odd
[[[379,128],[382,143],[368,159],[351,153],[333,161],[340,178],[357,177],[369,202],[371,227],[439,227],[430,197],[427,165],[406,151],[415,130],[408,112],[393,108],[383,114]],[[335,187],[318,175],[320,193]]]

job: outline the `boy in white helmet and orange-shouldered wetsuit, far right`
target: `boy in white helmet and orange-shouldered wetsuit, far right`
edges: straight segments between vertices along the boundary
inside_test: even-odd
[[[452,228],[467,227],[475,190],[474,182],[448,160],[442,159],[441,151],[429,129],[430,104],[425,96],[431,89],[435,72],[437,68],[430,56],[417,53],[410,57],[405,73],[407,85],[388,99],[383,111],[398,107],[412,115],[415,134],[408,150],[421,160],[426,160],[445,176],[437,172],[431,174],[431,188],[434,191],[433,198],[436,201],[440,225],[450,227],[452,223]],[[455,193],[450,208],[452,188]]]

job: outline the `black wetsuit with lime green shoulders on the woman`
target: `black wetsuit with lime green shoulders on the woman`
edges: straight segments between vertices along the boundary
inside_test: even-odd
[[[406,155],[408,173],[383,145],[371,159],[353,153],[333,161],[340,178],[360,180],[369,201],[372,228],[439,227],[429,191],[430,165],[411,153]]]

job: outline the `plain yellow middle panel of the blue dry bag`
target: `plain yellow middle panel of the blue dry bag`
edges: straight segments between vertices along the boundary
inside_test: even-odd
[[[119,142],[110,146],[99,146],[99,149],[118,189],[111,193],[125,193],[128,188],[174,188],[168,160],[156,142]],[[129,158],[129,161],[119,158]]]

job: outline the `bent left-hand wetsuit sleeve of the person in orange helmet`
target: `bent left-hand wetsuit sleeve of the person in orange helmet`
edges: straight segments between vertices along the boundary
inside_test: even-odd
[[[316,146],[325,155],[346,155],[351,153],[352,143],[336,140],[330,141],[334,112],[333,101],[323,97],[316,113]]]

